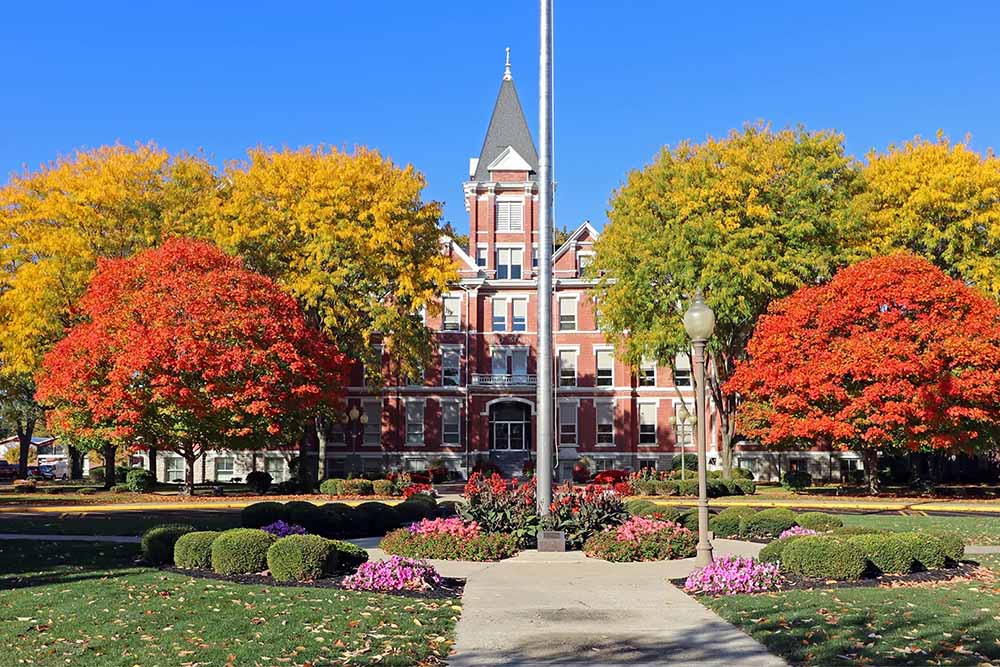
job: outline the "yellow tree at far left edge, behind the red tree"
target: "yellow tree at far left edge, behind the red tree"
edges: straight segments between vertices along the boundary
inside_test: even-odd
[[[79,151],[0,188],[0,412],[17,422],[22,474],[40,415],[34,374],[72,324],[97,259],[203,234],[216,190],[205,159],[155,144]]]

